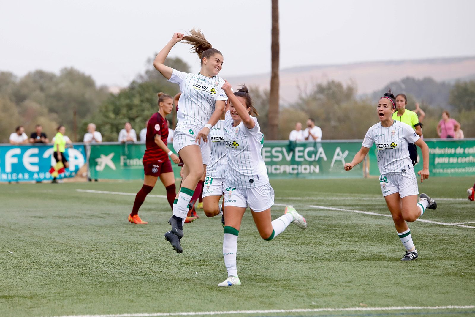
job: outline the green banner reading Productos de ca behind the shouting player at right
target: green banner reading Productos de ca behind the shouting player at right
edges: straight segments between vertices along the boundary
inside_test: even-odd
[[[430,176],[468,176],[475,175],[475,140],[424,140],[429,146]],[[417,148],[419,162],[414,167],[415,172],[422,169],[422,153]],[[376,147],[370,150],[370,175],[379,176],[376,160]]]

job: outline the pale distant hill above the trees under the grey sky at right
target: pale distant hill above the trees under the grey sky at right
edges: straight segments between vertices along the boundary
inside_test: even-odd
[[[285,103],[298,97],[300,90],[330,79],[343,83],[354,82],[358,94],[371,94],[392,81],[405,77],[432,77],[436,81],[455,82],[475,77],[475,57],[432,58],[383,62],[364,62],[344,65],[309,65],[281,69],[280,94]],[[270,73],[226,78],[232,85],[268,88]]]

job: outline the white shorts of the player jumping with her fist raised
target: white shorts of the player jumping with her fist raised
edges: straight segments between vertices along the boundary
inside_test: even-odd
[[[201,150],[201,157],[203,158],[203,164],[208,165],[210,163],[211,156],[211,140],[203,142],[201,139],[200,144],[196,142],[196,136],[202,127],[196,125],[177,125],[173,132],[173,148],[175,152],[180,154],[180,150],[188,145],[198,145]]]

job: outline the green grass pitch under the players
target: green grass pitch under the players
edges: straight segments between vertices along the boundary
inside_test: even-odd
[[[232,288],[217,287],[227,276],[220,219],[199,212],[177,254],[163,239],[166,199],[148,197],[140,215],[149,224],[133,225],[133,195],[84,192],[135,194],[140,182],[2,184],[0,316],[475,315],[475,203],[466,200],[473,178],[419,184],[439,200],[422,217],[431,222],[409,224],[419,251],[411,262],[399,260],[404,249],[383,216],[377,179],[271,183],[273,218],[293,204],[308,229],[291,224],[264,241],[247,212],[238,239],[242,285]],[[160,184],[151,194],[165,190]],[[461,222],[472,223],[453,225]],[[443,306],[457,307],[434,308]]]

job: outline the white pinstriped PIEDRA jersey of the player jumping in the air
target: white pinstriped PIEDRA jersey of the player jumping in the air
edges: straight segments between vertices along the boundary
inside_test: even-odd
[[[171,83],[180,85],[181,96],[178,104],[177,125],[203,127],[214,112],[217,100],[228,100],[221,87],[221,77],[206,77],[201,74],[187,74],[173,69]]]

